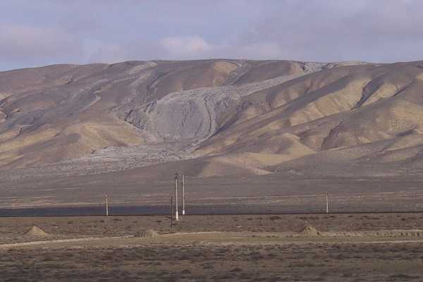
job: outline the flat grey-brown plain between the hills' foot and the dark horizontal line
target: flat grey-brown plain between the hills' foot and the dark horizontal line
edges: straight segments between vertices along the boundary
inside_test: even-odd
[[[1,209],[91,207],[104,212],[105,195],[116,207],[165,206],[174,193],[173,173],[148,181],[113,173],[30,180],[5,180],[0,187]],[[423,178],[346,178],[312,176],[238,176],[185,178],[188,209],[196,214],[278,214],[324,212],[329,192],[331,212],[423,212]],[[71,212],[71,211],[68,211]],[[36,215],[35,211],[17,216]],[[55,214],[55,213],[52,213]],[[59,213],[57,213],[59,214]],[[73,214],[73,213],[72,213]],[[78,212],[76,213],[78,214]],[[82,214],[79,211],[79,214]],[[125,214],[134,214],[127,210]],[[137,214],[149,214],[143,210]],[[164,214],[154,210],[152,214]],[[44,214],[41,214],[44,215]],[[71,215],[71,214],[61,214]]]

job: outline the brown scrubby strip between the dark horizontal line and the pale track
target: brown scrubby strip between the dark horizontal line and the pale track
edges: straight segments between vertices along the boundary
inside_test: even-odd
[[[38,226],[52,237],[123,236],[151,228],[170,232],[168,216],[63,216],[0,218],[0,243],[25,240],[25,232]],[[423,213],[410,214],[242,214],[181,216],[174,232],[300,231],[306,223],[320,231],[423,229]]]

